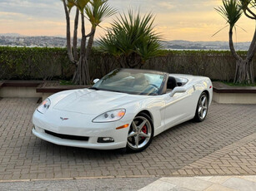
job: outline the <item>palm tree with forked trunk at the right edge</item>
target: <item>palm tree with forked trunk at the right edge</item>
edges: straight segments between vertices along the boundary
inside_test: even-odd
[[[253,2],[255,3],[255,1],[252,0],[223,0],[223,6],[216,8],[217,12],[220,13],[229,25],[229,48],[236,60],[234,83],[254,83],[253,56],[256,51],[256,30],[245,59],[243,59],[242,56],[239,56],[233,47],[233,28],[235,28],[235,25],[243,12],[247,17],[256,19],[251,9],[248,8],[248,5]]]

